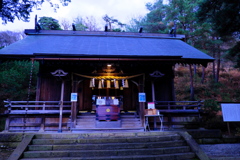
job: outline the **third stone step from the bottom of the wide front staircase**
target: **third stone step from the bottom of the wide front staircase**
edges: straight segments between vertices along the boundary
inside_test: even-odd
[[[51,151],[51,150],[115,150],[115,149],[140,149],[140,148],[164,148],[186,146],[183,140],[148,142],[148,143],[102,143],[102,144],[62,144],[62,145],[29,145],[29,151]]]

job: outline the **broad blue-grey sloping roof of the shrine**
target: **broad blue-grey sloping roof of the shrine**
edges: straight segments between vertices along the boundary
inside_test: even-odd
[[[212,61],[183,42],[184,36],[161,34],[27,30],[28,36],[4,49],[2,56],[57,55],[75,57],[161,57]],[[87,34],[86,34],[87,33]]]

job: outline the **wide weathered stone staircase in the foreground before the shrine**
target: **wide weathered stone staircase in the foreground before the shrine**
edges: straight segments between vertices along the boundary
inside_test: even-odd
[[[26,148],[21,160],[198,159],[175,132],[36,134]]]

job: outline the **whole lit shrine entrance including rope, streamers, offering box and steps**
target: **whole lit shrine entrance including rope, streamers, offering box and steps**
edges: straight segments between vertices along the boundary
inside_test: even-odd
[[[129,123],[123,116],[131,114],[134,118],[138,114],[139,90],[136,81],[143,74],[76,75],[81,77],[77,89],[78,115],[81,119],[88,117],[88,121],[94,121],[84,127],[126,128],[131,123],[141,125],[139,118]]]

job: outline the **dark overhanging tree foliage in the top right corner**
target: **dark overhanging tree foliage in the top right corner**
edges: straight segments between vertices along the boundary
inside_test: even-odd
[[[231,36],[236,39],[240,32],[240,1],[239,0],[203,0],[197,13],[200,22],[210,22],[213,24],[213,30],[223,41]],[[229,59],[239,56],[239,43],[229,50],[227,57]],[[235,61],[236,67],[240,68],[240,59]]]

